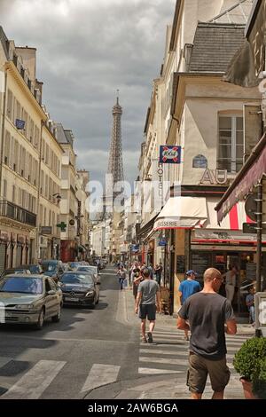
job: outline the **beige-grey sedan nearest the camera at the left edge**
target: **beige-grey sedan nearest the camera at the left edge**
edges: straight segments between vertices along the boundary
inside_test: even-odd
[[[41,329],[45,319],[59,322],[63,296],[45,275],[7,275],[0,281],[0,303],[6,324],[28,324]]]

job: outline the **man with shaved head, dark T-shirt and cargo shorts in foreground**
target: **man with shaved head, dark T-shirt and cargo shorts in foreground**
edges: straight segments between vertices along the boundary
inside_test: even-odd
[[[215,268],[205,271],[203,290],[189,297],[178,312],[177,328],[192,332],[187,377],[192,399],[201,399],[207,374],[214,390],[212,399],[223,399],[230,380],[225,333],[236,334],[237,325],[230,301],[217,294],[222,279]]]

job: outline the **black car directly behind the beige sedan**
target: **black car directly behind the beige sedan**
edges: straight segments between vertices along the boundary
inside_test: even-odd
[[[64,305],[87,305],[94,309],[99,301],[99,284],[92,273],[65,272],[60,279]]]

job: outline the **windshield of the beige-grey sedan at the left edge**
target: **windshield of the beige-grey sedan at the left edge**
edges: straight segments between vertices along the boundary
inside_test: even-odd
[[[40,278],[8,277],[0,284],[1,293],[43,294]]]

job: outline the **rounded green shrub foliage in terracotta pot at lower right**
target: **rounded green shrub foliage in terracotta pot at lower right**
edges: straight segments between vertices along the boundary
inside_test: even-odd
[[[247,381],[258,381],[266,358],[266,338],[248,339],[235,354],[233,366]]]

